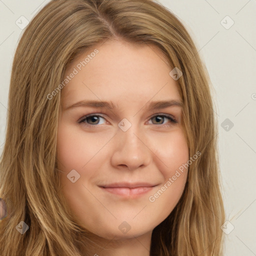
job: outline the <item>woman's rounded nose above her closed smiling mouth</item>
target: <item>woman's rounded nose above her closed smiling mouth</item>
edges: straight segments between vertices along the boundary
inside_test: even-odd
[[[147,166],[152,159],[145,135],[142,135],[134,124],[126,131],[118,129],[112,143],[111,164],[115,168],[134,170]]]

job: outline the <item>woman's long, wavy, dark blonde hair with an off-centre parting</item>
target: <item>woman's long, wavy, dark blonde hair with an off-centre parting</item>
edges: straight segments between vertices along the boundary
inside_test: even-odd
[[[56,132],[60,94],[50,100],[68,63],[114,38],[156,45],[178,67],[183,127],[189,155],[184,192],[153,229],[150,255],[222,253],[224,210],[220,192],[217,121],[210,80],[184,25],[152,0],[52,0],[24,30],[13,60],[6,138],[0,161],[0,197],[8,215],[0,223],[0,255],[83,255],[86,233],[60,193]],[[20,234],[24,221],[29,229]]]

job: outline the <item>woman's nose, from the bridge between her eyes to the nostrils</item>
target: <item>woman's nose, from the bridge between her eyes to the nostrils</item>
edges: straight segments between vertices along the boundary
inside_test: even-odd
[[[140,125],[136,124],[135,118],[132,122],[124,118],[118,126],[112,164],[126,165],[130,170],[140,165],[147,165],[150,161],[150,150],[144,144],[145,138],[141,135],[143,133]]]

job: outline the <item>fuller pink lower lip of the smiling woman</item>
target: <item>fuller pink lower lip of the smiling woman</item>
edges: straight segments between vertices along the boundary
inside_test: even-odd
[[[119,194],[127,197],[135,197],[142,194],[147,193],[150,191],[153,187],[152,186],[141,186],[141,187],[102,187],[102,189],[112,193],[112,194]]]

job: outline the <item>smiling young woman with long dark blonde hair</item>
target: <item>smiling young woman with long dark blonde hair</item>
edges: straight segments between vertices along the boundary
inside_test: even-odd
[[[221,255],[209,84],[159,3],[50,1],[13,61],[0,255]]]

